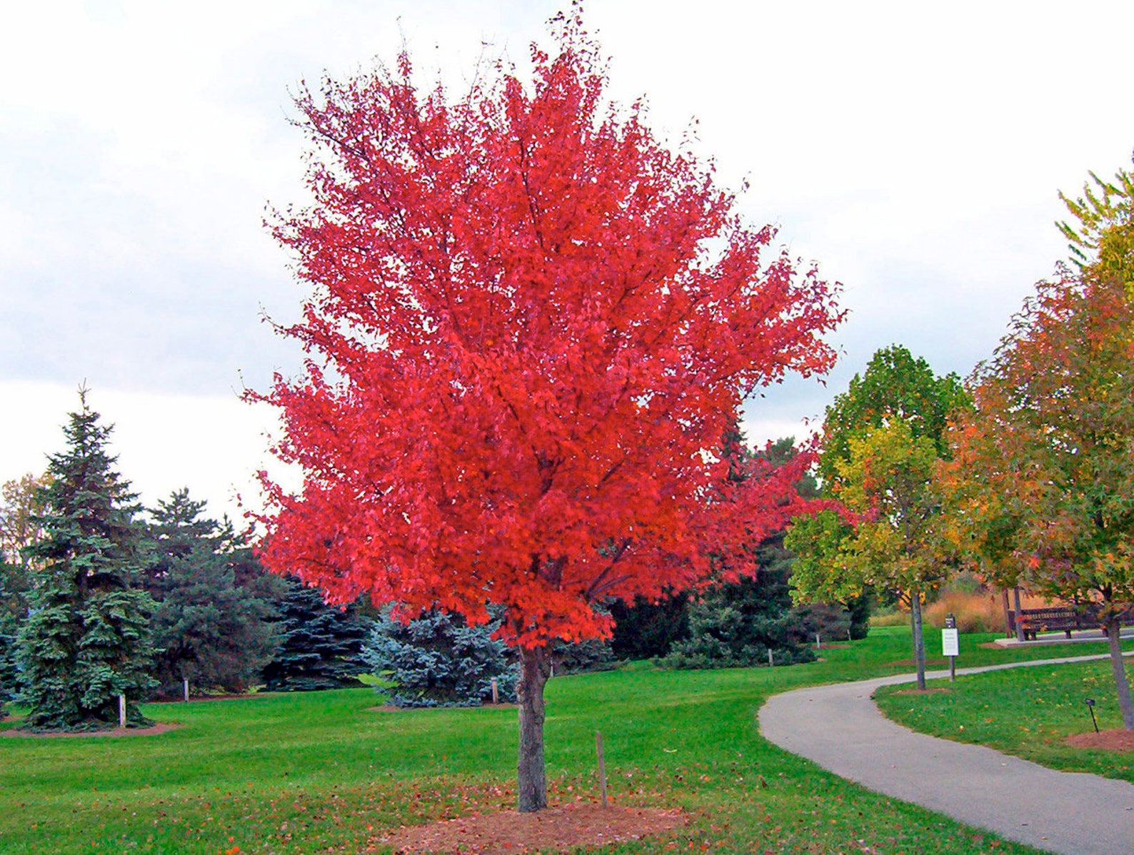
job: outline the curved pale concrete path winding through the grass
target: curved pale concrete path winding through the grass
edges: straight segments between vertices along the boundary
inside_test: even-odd
[[[1106,658],[1048,659],[957,669],[957,674]],[[1134,853],[1134,785],[1057,772],[895,725],[871,695],[879,686],[914,679],[908,674],[773,695],[760,710],[761,733],[781,748],[869,789],[1038,849],[1066,855]]]

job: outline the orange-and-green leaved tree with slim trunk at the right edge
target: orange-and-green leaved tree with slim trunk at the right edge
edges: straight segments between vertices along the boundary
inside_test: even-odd
[[[1118,630],[1134,607],[1134,300],[1119,277],[1040,282],[953,433],[955,524],[995,570],[1093,612],[1134,730]]]

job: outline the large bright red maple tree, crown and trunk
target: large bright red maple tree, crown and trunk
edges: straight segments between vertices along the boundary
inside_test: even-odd
[[[543,684],[596,604],[660,598],[799,513],[794,467],[727,479],[753,389],[826,371],[836,288],[742,222],[712,166],[604,101],[577,18],[525,85],[421,92],[403,54],[297,104],[314,204],[278,240],[313,293],[280,408],[263,560],[331,600],[485,621],[521,657],[519,809],[547,804]],[[753,572],[731,560],[727,573]]]

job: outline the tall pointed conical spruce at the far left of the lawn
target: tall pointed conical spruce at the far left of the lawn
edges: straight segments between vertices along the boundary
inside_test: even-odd
[[[142,527],[129,484],[107,451],[111,428],[87,407],[64,428],[67,450],[51,456],[40,501],[40,540],[28,548],[42,569],[19,633],[27,726],[88,730],[145,720],[136,702],[153,686],[153,601],[136,586]]]

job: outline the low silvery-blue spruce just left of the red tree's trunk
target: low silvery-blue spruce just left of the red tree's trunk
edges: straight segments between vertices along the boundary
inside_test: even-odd
[[[404,624],[387,608],[366,643],[366,661],[393,684],[386,693],[396,706],[479,706],[492,700],[493,677],[499,699],[510,703],[518,670],[507,645],[492,638],[498,626],[468,626],[443,611]]]

